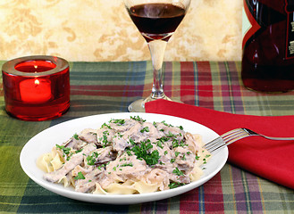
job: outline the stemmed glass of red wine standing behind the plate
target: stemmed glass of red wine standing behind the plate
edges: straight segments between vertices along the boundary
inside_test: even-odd
[[[147,41],[153,65],[151,95],[130,103],[129,111],[145,112],[145,103],[171,100],[164,94],[163,61],[168,40],[183,20],[190,0],[123,0],[130,19]]]

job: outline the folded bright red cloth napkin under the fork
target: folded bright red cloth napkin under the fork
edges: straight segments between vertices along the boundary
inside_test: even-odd
[[[265,136],[294,136],[294,116],[252,116],[157,100],[146,103],[147,112],[193,120],[217,134],[249,128]],[[228,146],[228,161],[260,177],[294,189],[294,141],[273,141],[260,136],[243,138]]]

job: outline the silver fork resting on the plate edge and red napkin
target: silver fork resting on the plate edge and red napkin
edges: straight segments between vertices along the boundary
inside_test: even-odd
[[[205,144],[204,147],[206,148],[206,150],[208,150],[208,152],[214,152],[215,150],[223,148],[223,146],[232,144],[238,141],[239,139],[242,139],[247,136],[263,136],[270,140],[294,140],[294,137],[264,136],[248,128],[236,128],[224,133],[222,136],[216,137],[214,140]]]

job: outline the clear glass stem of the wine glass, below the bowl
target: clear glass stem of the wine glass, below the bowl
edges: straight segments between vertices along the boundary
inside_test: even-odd
[[[153,40],[148,43],[153,65],[152,99],[161,99],[165,97],[163,87],[163,62],[166,44],[167,42],[162,40]]]

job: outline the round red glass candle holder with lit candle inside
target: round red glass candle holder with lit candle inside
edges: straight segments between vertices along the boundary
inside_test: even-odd
[[[70,70],[62,58],[17,58],[4,63],[2,76],[5,110],[17,119],[55,119],[70,107]]]

